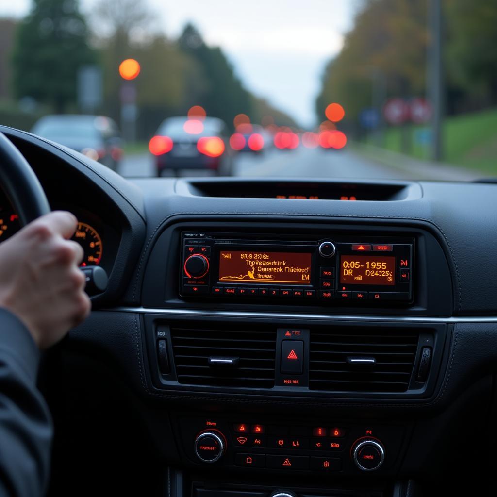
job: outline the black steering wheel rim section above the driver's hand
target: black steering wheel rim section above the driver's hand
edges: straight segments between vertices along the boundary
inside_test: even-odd
[[[50,212],[47,197],[33,169],[1,132],[0,185],[18,214],[21,226]]]

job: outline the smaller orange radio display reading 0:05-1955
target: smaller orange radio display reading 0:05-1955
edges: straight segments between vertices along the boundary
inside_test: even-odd
[[[340,283],[395,285],[395,257],[342,255],[340,256]]]

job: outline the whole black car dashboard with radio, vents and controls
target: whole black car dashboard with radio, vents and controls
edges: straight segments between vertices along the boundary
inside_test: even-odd
[[[98,234],[109,274],[42,370],[53,495],[492,482],[496,185],[125,180],[3,131],[51,207]]]

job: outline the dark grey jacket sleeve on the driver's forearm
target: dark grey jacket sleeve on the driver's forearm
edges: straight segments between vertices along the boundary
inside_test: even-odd
[[[29,331],[0,309],[0,496],[43,496],[52,419],[36,388],[39,352]]]

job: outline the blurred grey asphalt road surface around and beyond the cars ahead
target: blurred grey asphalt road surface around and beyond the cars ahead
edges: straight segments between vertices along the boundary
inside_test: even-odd
[[[153,176],[150,154],[126,157],[118,172],[126,177]],[[180,175],[200,176],[210,171],[188,170]],[[438,167],[412,162],[396,167],[369,160],[352,150],[306,149],[269,150],[260,155],[239,154],[235,176],[353,178],[353,179],[442,179],[468,180],[468,172],[458,168]]]

